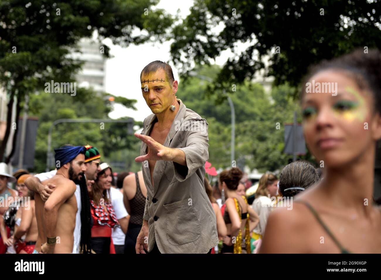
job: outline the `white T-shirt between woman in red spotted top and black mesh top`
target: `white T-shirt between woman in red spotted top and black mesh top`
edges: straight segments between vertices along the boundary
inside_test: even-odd
[[[119,189],[115,189],[111,187],[110,195],[111,195],[111,204],[115,210],[115,216],[117,216],[117,219],[119,220],[127,216],[128,213],[123,203],[123,194],[119,191]],[[124,234],[122,229],[120,228],[112,229],[111,237],[112,237],[112,242],[114,243],[114,245],[124,245],[124,240],[126,238],[126,235]]]

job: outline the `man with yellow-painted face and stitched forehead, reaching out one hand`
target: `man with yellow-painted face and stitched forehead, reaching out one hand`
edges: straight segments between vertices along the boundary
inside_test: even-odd
[[[141,72],[152,115],[144,120],[140,154],[147,199],[136,253],[209,253],[218,244],[216,215],[203,185],[208,123],[176,99],[178,81],[162,61]]]

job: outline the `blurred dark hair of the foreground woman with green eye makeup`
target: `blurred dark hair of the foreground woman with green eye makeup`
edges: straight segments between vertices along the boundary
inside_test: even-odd
[[[302,83],[301,98],[306,92],[306,84],[312,76],[328,69],[343,70],[344,74],[350,75],[360,89],[370,89],[375,97],[374,109],[381,113],[381,52],[378,49],[358,48],[349,54],[331,60],[323,60],[320,64],[310,68],[309,74]]]

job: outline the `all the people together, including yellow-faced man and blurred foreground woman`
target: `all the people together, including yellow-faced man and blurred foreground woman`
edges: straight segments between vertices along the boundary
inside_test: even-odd
[[[373,197],[381,138],[381,53],[354,51],[311,68],[301,92],[307,146],[323,167],[292,162],[266,172],[254,197],[237,167],[205,177],[205,119],[176,98],[171,67],[141,72],[152,115],[142,170],[114,176],[93,146],[55,149],[56,170],[12,175],[0,163],[0,253],[380,253]],[[335,93],[335,94],[333,94]],[[191,121],[192,130],[173,123]],[[366,128],[365,128],[366,127]],[[15,183],[15,189],[8,183]],[[253,199],[253,200],[252,200]]]

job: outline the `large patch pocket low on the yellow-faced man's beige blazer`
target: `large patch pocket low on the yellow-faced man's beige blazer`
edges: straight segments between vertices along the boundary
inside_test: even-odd
[[[171,245],[183,245],[200,238],[200,225],[190,198],[163,206],[166,212],[167,239]]]

